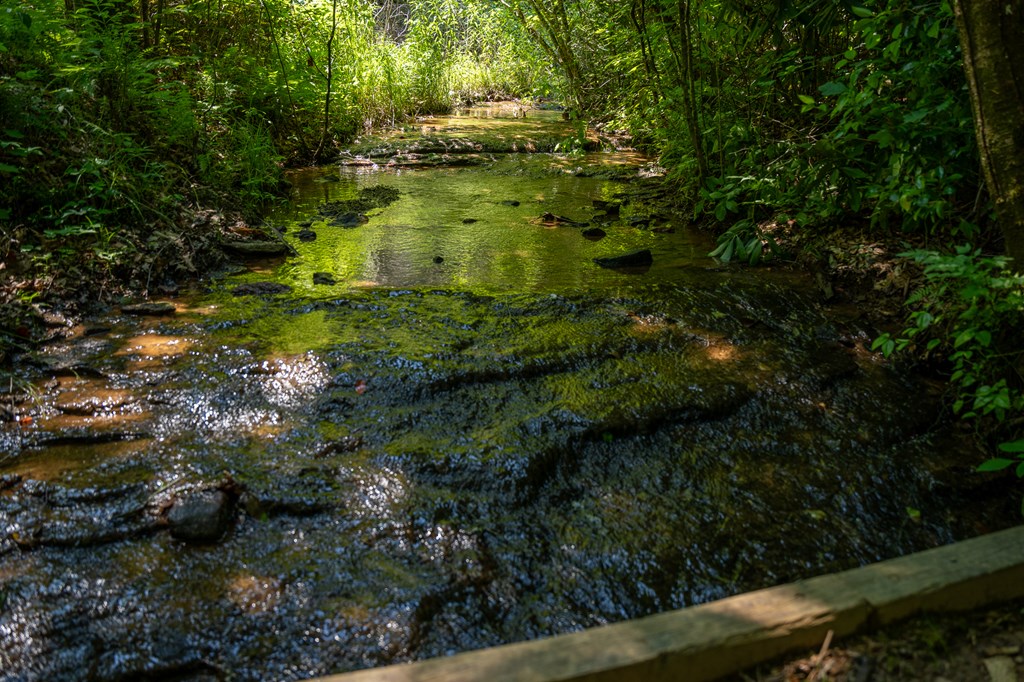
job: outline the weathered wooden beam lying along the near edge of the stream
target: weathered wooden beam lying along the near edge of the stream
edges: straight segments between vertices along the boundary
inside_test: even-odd
[[[1024,596],[1024,526],[594,628],[318,682],[705,682],[923,610]]]

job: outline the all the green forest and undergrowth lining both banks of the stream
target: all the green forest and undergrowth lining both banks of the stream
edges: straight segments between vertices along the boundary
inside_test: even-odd
[[[992,255],[1002,235],[953,9],[8,1],[0,256],[16,284],[5,297],[82,279],[117,291],[145,289],[154,272],[186,276],[205,252],[206,236],[188,229],[197,211],[257,216],[281,196],[288,164],[328,162],[370,130],[460,103],[552,98],[658,155],[680,204],[721,232],[722,260],[756,264],[795,243],[827,266],[830,236],[851,226],[938,249],[913,252],[928,285],[909,329],[879,346],[946,358],[956,409],[1019,438],[1021,280]]]

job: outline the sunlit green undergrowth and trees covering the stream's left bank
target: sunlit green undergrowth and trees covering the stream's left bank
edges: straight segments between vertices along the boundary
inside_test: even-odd
[[[531,50],[496,7],[449,0],[5,3],[0,256],[61,289],[195,274],[196,209],[256,217],[286,162],[528,94]]]

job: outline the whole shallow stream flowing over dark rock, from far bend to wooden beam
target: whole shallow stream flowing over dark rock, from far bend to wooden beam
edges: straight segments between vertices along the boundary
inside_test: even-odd
[[[19,370],[0,679],[302,679],[986,529],[937,388],[800,278],[708,259],[645,203],[646,160],[523,154],[574,127],[502,111],[296,172],[269,219],[297,255],[172,316],[97,315]],[[350,227],[319,209],[373,193],[394,201]],[[637,249],[652,265],[593,262]],[[291,290],[232,295],[266,282]],[[210,496],[214,539],[175,532]]]

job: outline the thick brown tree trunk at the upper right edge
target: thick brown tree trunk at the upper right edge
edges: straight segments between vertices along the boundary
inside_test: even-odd
[[[985,183],[1024,271],[1024,0],[954,0]]]

